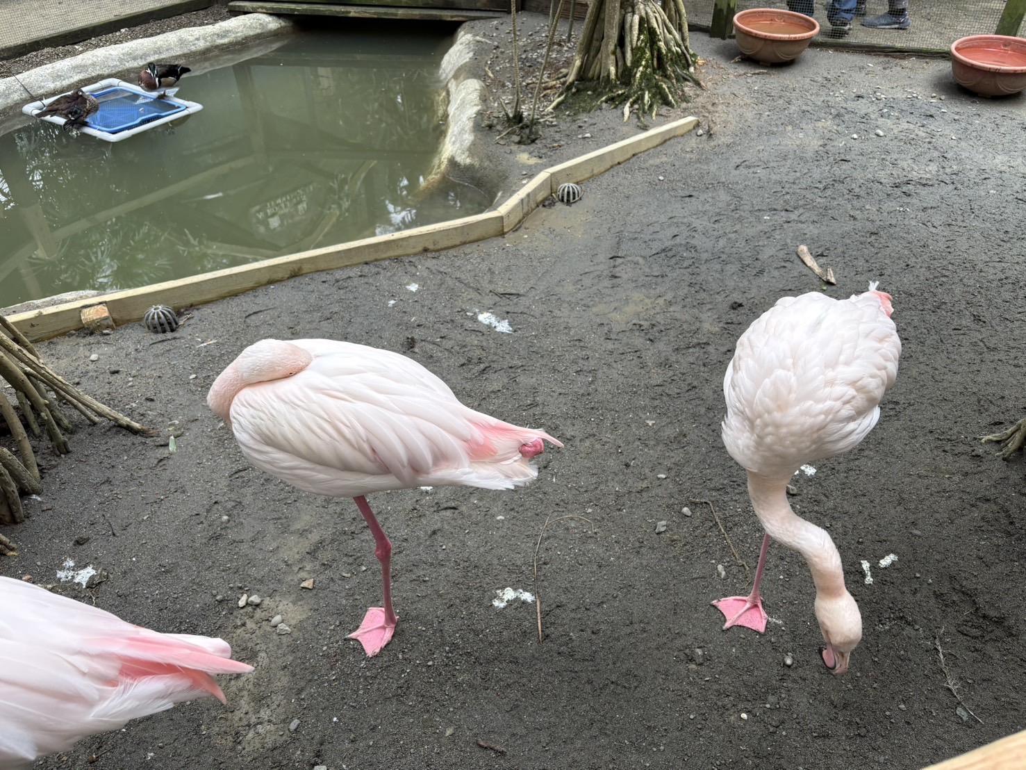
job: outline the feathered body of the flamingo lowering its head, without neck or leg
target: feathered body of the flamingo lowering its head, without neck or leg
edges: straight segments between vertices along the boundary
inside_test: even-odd
[[[727,451],[766,476],[846,452],[879,419],[900,355],[877,293],[780,300],[742,335],[723,379]]]

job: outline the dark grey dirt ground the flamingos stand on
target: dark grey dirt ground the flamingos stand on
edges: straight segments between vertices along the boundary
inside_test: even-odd
[[[82,423],[72,454],[41,448],[44,494],[5,528],[21,555],[0,570],[221,636],[256,667],[225,678],[227,707],[183,704],[41,767],[918,768],[1026,727],[1023,459],[976,439],[1026,412],[1023,99],[979,100],[942,61],[810,50],[767,72],[734,62],[733,43],[693,44],[709,90],[667,117],[701,115],[701,136],[586,183],[573,207],[195,308],[171,335],[40,346],[160,436]],[[532,174],[534,158],[637,130],[611,111],[550,128],[496,145],[497,167]],[[796,478],[792,499],[831,533],[862,609],[863,643],[834,678],[798,554],[771,549],[764,636],[721,631],[709,606],[747,590],[731,543],[752,568],[761,537],[719,440],[721,383],[777,299],[873,279],[895,298],[898,383],[869,438]],[[216,374],[265,337],[403,352],[468,405],[565,444],[514,493],[371,498],[401,616],[376,658],[344,640],[381,590],[355,506],[253,470],[206,408]],[[536,591],[536,552],[541,644],[535,605],[492,605]],[[106,579],[60,583],[66,560]],[[239,609],[243,593],[262,603]]]

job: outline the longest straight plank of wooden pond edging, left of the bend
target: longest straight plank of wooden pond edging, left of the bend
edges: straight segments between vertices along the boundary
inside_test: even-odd
[[[363,238],[349,243],[324,246],[309,252],[262,260],[247,265],[215,270],[188,278],[154,283],[97,295],[47,308],[7,316],[32,341],[45,340],[82,328],[82,310],[93,305],[106,305],[116,324],[136,321],[152,305],[168,305],[175,309],[203,305],[226,297],[248,292],[269,283],[294,278],[308,273],[362,265],[379,260],[409,257],[425,252],[472,243],[503,234],[503,217],[486,211],[474,217],[427,225],[400,233]]]

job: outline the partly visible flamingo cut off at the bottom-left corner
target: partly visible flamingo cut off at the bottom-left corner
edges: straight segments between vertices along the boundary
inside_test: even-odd
[[[203,695],[211,673],[245,673],[220,639],[158,633],[0,577],[0,769],[29,767],[80,738]]]

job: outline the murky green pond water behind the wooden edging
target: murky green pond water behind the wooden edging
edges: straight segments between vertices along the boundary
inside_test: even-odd
[[[484,210],[473,188],[423,187],[448,31],[395,29],[304,33],[190,74],[203,111],[124,142],[42,122],[0,137],[0,307]]]

